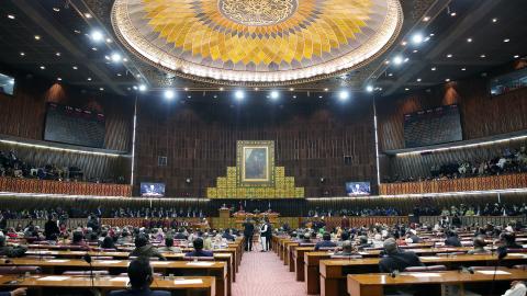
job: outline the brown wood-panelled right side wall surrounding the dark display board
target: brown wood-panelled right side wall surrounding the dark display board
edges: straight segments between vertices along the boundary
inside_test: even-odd
[[[378,101],[381,150],[404,147],[404,114],[458,104],[463,139],[527,129],[527,89],[491,98],[487,80],[474,78]]]

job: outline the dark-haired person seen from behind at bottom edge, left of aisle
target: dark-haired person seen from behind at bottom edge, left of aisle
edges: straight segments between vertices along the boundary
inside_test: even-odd
[[[131,287],[122,291],[112,291],[109,296],[170,296],[168,291],[150,291],[154,282],[152,266],[146,258],[138,258],[128,265]]]

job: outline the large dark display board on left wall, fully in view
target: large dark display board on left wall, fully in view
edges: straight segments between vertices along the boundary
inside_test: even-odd
[[[104,115],[78,107],[47,104],[44,139],[104,148]]]

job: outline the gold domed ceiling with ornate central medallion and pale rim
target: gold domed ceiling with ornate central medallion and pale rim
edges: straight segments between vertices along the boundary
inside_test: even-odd
[[[281,86],[363,66],[396,38],[399,0],[116,0],[112,24],[143,60],[181,77]]]

